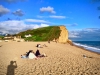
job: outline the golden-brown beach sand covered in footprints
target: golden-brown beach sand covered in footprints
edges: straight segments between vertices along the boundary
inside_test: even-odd
[[[47,57],[21,58],[29,50],[35,52],[37,44],[48,46],[39,48]],[[11,65],[11,61],[16,61],[17,66]],[[100,75],[100,54],[55,42],[0,42],[0,75],[7,72],[10,75]]]

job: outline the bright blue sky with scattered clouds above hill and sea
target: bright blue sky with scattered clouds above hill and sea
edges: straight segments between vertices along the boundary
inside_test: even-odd
[[[73,41],[100,41],[100,0],[0,0],[0,34],[64,25]]]

